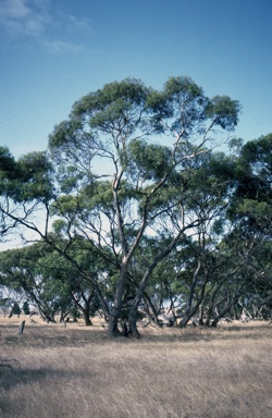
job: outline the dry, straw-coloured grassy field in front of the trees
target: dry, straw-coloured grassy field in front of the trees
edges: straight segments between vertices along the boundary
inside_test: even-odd
[[[270,418],[272,324],[143,329],[0,318],[1,418]]]

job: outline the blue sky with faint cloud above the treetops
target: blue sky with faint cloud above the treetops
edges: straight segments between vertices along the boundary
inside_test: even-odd
[[[272,132],[272,0],[0,0],[0,145],[47,147],[73,102],[134,76],[189,75],[243,104],[235,135]]]

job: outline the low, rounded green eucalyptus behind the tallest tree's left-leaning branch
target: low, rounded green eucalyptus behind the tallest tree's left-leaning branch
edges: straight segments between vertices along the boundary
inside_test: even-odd
[[[54,241],[61,244],[57,236]],[[91,251],[84,253],[76,243],[70,248],[70,256],[78,266],[84,265],[92,274],[101,275],[104,269],[97,258],[90,258],[91,255]],[[85,324],[90,325],[90,317],[99,308],[94,290],[78,270],[67,265],[66,259],[46,242],[0,253],[0,278],[7,287],[23,290],[48,321],[55,321],[57,314],[64,320],[79,312]]]

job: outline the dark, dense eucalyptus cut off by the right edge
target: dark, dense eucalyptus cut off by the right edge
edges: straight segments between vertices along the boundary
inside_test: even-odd
[[[226,312],[238,317],[243,308],[252,316],[260,307],[270,310],[271,139],[267,135],[245,145],[235,140],[235,155],[213,159],[217,177],[230,184],[227,230],[224,226],[220,250],[220,257],[228,261],[224,274],[218,273],[221,284],[212,285],[203,300],[208,323],[213,317],[211,323],[217,324]]]

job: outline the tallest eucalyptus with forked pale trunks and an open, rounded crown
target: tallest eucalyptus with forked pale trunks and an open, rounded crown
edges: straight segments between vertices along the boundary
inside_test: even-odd
[[[218,131],[234,130],[238,113],[236,100],[209,99],[189,77],[171,77],[162,90],[127,78],[84,96],[74,103],[69,120],[54,127],[49,137],[54,182],[49,176],[37,196],[32,188],[27,201],[33,207],[44,204],[46,220],[51,213],[63,222],[66,248],[33,220],[21,223],[81,270],[99,298],[110,335],[119,335],[124,295],[141,241],[152,235],[159,242],[163,236],[168,244],[158,246],[134,288],[128,325],[131,334],[138,335],[137,310],[151,273],[201,222],[186,212],[191,161],[221,143]],[[47,169],[51,175],[51,168]],[[104,297],[100,280],[69,255],[76,236],[91,243],[91,250],[118,270],[111,280],[113,300]]]

